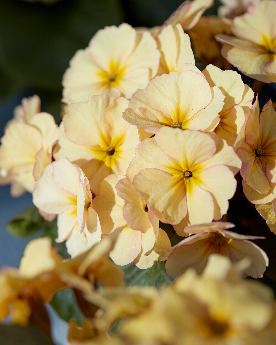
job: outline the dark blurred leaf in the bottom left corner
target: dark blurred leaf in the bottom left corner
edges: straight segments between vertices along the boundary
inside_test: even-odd
[[[19,325],[0,325],[1,345],[53,345],[50,338],[36,328]]]

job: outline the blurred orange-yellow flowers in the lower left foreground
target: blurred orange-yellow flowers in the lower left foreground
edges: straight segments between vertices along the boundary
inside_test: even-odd
[[[29,242],[19,270],[4,268],[0,273],[0,322],[8,315],[11,323],[21,325],[37,326],[40,318],[45,322],[43,305],[61,289],[75,288],[91,299],[95,284],[124,286],[122,270],[107,258],[116,236],[68,260],[57,254],[48,237]]]

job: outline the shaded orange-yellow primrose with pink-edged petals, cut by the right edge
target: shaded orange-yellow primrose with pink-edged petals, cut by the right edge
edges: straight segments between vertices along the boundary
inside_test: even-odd
[[[244,194],[253,204],[270,203],[276,197],[275,121],[272,101],[265,104],[260,114],[256,98],[234,145],[242,160]]]

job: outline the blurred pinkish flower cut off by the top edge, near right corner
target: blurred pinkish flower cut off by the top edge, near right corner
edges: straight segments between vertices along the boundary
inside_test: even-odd
[[[262,0],[220,0],[222,5],[218,8],[218,16],[235,18],[244,14],[261,1]]]

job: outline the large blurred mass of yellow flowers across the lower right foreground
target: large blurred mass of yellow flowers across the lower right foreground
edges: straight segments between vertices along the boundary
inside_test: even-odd
[[[212,255],[203,274],[190,268],[161,290],[103,289],[101,295],[109,303],[82,329],[72,322],[69,342],[227,345],[260,344],[265,339],[274,345],[273,292],[261,283],[242,280],[240,270],[246,265]]]

